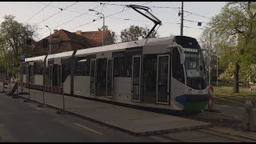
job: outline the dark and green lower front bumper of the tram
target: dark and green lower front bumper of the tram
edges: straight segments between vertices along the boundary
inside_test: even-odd
[[[184,111],[204,110],[209,101],[208,94],[185,94],[175,98],[177,102],[184,106]]]

